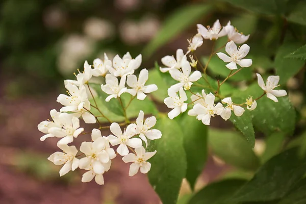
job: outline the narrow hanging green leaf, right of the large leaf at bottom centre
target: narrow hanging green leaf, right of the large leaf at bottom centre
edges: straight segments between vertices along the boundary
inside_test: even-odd
[[[186,179],[194,190],[196,179],[207,161],[207,126],[187,114],[180,119],[181,126],[188,127],[182,129],[187,158]]]

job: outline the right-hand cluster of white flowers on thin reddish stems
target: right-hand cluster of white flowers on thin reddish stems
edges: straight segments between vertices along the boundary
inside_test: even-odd
[[[249,111],[254,110],[257,107],[257,100],[264,95],[267,95],[268,98],[275,102],[278,102],[276,97],[287,95],[285,90],[273,90],[280,86],[277,85],[279,81],[278,76],[268,77],[265,85],[263,78],[257,73],[258,84],[264,90],[262,96],[256,99],[253,99],[252,96],[250,96],[249,98],[246,98],[246,103],[244,104],[235,104],[231,97],[221,97],[219,95],[220,86],[228,78],[231,78],[233,75],[238,73],[242,68],[250,67],[252,65],[251,59],[245,59],[249,53],[250,47],[247,44],[243,44],[239,47],[236,45],[248,40],[249,35],[245,36],[242,33],[239,33],[237,29],[231,25],[230,21],[225,25],[225,27],[222,27],[219,20],[216,20],[212,28],[210,26],[207,26],[206,28],[201,24],[197,24],[197,28],[198,33],[192,39],[188,40],[189,46],[186,54],[184,54],[183,49],[177,49],[176,58],[173,56],[165,56],[161,59],[165,67],[160,67],[160,71],[169,72],[171,77],[179,82],[168,89],[169,97],[164,99],[164,103],[167,107],[172,109],[168,113],[170,119],[173,119],[180,115],[180,113],[187,111],[188,105],[192,105],[193,107],[188,111],[188,115],[196,116],[196,118],[201,120],[203,124],[209,125],[211,117],[215,117],[216,115],[227,120],[231,117],[232,111],[239,117],[243,115],[245,111],[244,107]],[[193,84],[199,79],[204,78],[207,84],[210,84],[206,75],[208,64],[203,67],[200,62],[194,60],[197,59],[195,50],[203,44],[203,39],[215,41],[223,36],[227,36],[228,38],[228,42],[224,45],[227,55],[216,51],[212,52],[210,59],[214,54],[216,54],[222,61],[228,63],[225,67],[231,70],[230,74],[224,81],[220,82],[218,80],[218,89],[214,91],[214,93],[207,94],[205,90],[202,90],[201,94],[198,92],[193,93],[191,91],[191,86],[193,86]],[[187,59],[188,54],[191,54],[189,55],[191,62]],[[198,64],[201,65],[200,68],[202,68],[203,74],[199,71],[200,68],[197,67]],[[239,69],[238,66],[240,67]],[[196,69],[193,72],[192,67]],[[233,73],[236,69],[237,71]],[[185,91],[191,93],[191,103],[189,104],[186,103],[188,98]]]

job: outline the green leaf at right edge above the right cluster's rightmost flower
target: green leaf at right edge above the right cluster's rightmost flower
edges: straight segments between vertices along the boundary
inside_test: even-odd
[[[305,62],[302,60],[285,58],[285,56],[294,52],[300,46],[301,44],[299,43],[285,42],[278,48],[274,59],[274,67],[276,74],[279,75],[280,84],[286,83],[287,80],[293,77],[304,65]]]

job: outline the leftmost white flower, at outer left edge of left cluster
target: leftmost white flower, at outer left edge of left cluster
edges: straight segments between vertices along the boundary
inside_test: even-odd
[[[49,131],[51,127],[59,127],[59,128],[62,127],[62,124],[59,120],[60,114],[62,114],[62,113],[57,112],[55,109],[52,109],[50,111],[50,116],[52,117],[53,121],[44,120],[37,125],[38,130],[40,132],[46,134],[46,135],[44,135],[40,138],[40,141],[44,141],[48,137],[54,137],[54,135],[51,134],[50,131]]]

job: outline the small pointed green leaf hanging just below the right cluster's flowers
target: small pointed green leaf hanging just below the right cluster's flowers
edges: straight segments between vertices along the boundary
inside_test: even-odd
[[[240,117],[232,114],[230,120],[238,128],[238,130],[241,131],[246,141],[248,141],[249,145],[253,148],[255,145],[255,132],[250,112],[246,110]]]

